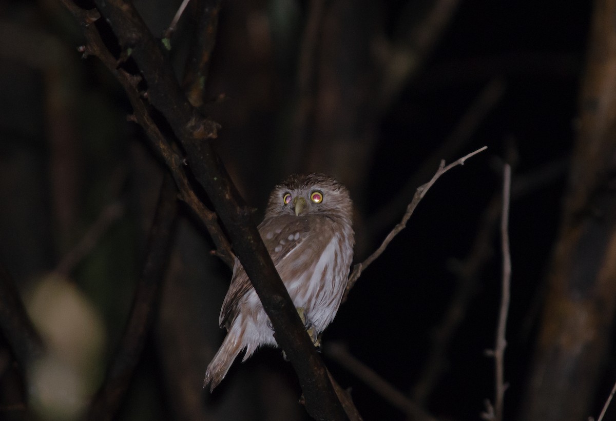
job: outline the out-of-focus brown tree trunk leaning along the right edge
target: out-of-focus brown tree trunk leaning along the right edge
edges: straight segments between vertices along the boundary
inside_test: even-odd
[[[614,334],[615,14],[615,0],[594,2],[580,129],[521,420],[587,417]]]

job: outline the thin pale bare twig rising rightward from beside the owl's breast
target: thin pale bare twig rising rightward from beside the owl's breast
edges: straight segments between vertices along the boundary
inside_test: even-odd
[[[407,227],[407,222],[410,219],[411,215],[413,215],[413,212],[415,212],[415,208],[417,207],[421,199],[426,196],[426,193],[428,193],[428,190],[432,187],[436,180],[438,180],[441,175],[445,174],[445,172],[452,169],[453,167],[458,165],[464,165],[464,161],[466,161],[466,159],[469,159],[471,158],[471,156],[485,151],[487,148],[487,146],[483,146],[482,148],[479,148],[476,151],[463,156],[457,161],[452,162],[448,166],[445,166],[444,160],[440,161],[439,169],[432,176],[431,180],[428,183],[417,188],[417,190],[415,191],[415,196],[413,196],[413,200],[411,200],[411,202],[408,204],[407,211],[402,217],[402,220],[394,227],[394,229],[389,232],[389,234],[387,234],[386,238],[383,240],[383,243],[381,243],[381,246],[379,246],[378,249],[373,252],[373,254],[368,256],[366,260],[361,263],[357,263],[357,265],[353,267],[353,271],[351,272],[351,275],[349,275],[349,282],[347,283],[346,291],[344,291],[344,297],[342,298],[342,302],[346,301],[347,296],[349,295],[349,291],[351,291],[351,288],[355,285],[357,278],[362,275],[362,271],[365,270],[365,268],[367,268],[368,266],[370,266],[370,263],[374,262],[381,254],[383,254],[387,246],[389,246],[389,243],[391,243],[392,239],[394,239],[394,237],[397,236],[400,231]]]

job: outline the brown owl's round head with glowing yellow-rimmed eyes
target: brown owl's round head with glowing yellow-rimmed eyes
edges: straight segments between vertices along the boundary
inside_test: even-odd
[[[265,217],[277,215],[338,215],[351,219],[349,191],[325,174],[293,174],[275,186]]]

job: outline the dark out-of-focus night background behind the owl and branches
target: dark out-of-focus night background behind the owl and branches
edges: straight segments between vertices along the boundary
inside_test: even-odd
[[[179,6],[135,3],[155,36]],[[447,335],[446,368],[421,403],[440,420],[479,419],[484,400],[493,401],[493,359],[485,350],[494,347],[500,305],[500,222],[498,213],[486,222],[484,212],[498,204],[502,164],[511,162],[505,418],[521,419],[579,126],[592,4],[447,3],[453,6],[444,25],[421,44],[414,31],[439,2],[323,2],[306,68],[299,64],[302,39],[315,3],[223,1],[201,111],[221,124],[214,145],[257,220],[272,186],[290,172],[329,172],[349,186],[356,263],[399,222],[438,159],[452,162],[488,146],[431,188],[323,337],[325,346],[343,343],[413,396],[460,287],[468,295],[460,323]],[[190,13],[189,6],[169,53],[179,75],[197,26]],[[32,302],[27,297],[63,259],[83,251],[61,283],[95,312],[104,332],[94,368],[79,371],[92,393],[128,317],[164,164],[139,126],[126,121],[131,106],[113,76],[97,58],[80,58],[81,30],[60,2],[5,0],[0,20],[0,263]],[[416,64],[385,95],[396,48]],[[306,114],[302,103],[309,104]],[[474,124],[461,126],[469,120]],[[452,137],[460,141],[440,150]],[[111,216],[105,214],[110,206]],[[102,228],[92,234],[97,224]],[[477,240],[482,230],[487,236]],[[91,245],[79,243],[84,236],[93,238]],[[155,326],[117,419],[306,419],[296,404],[294,372],[278,350],[237,362],[213,395],[201,390],[223,335],[217,313],[230,271],[209,255],[208,234],[186,206],[174,238]],[[485,257],[472,260],[476,242]],[[456,268],[469,261],[477,265],[464,278]],[[60,324],[54,326],[62,330]],[[0,419],[62,418],[31,404],[36,396],[26,398],[11,364],[14,350],[2,337],[0,351]],[[407,419],[326,352],[323,357],[352,389],[365,420]],[[601,374],[585,417],[598,414],[615,374],[613,358],[595,363]],[[614,413],[606,419],[616,419]]]

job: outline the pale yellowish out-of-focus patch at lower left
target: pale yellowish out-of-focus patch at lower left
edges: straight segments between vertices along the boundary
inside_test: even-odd
[[[36,284],[26,306],[46,347],[29,373],[32,407],[44,420],[77,419],[102,378],[102,319],[75,284],[57,273]]]

